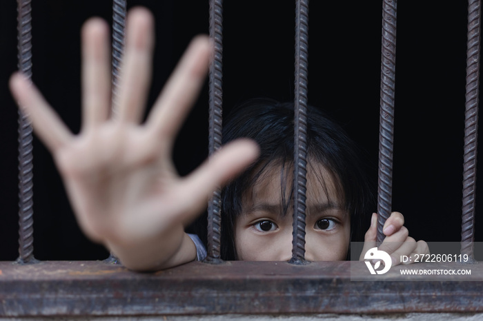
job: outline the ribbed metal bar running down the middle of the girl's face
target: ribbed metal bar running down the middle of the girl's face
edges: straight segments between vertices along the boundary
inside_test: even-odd
[[[290,263],[306,264],[305,210],[307,174],[308,0],[295,9],[295,129],[293,182],[293,238]]]

